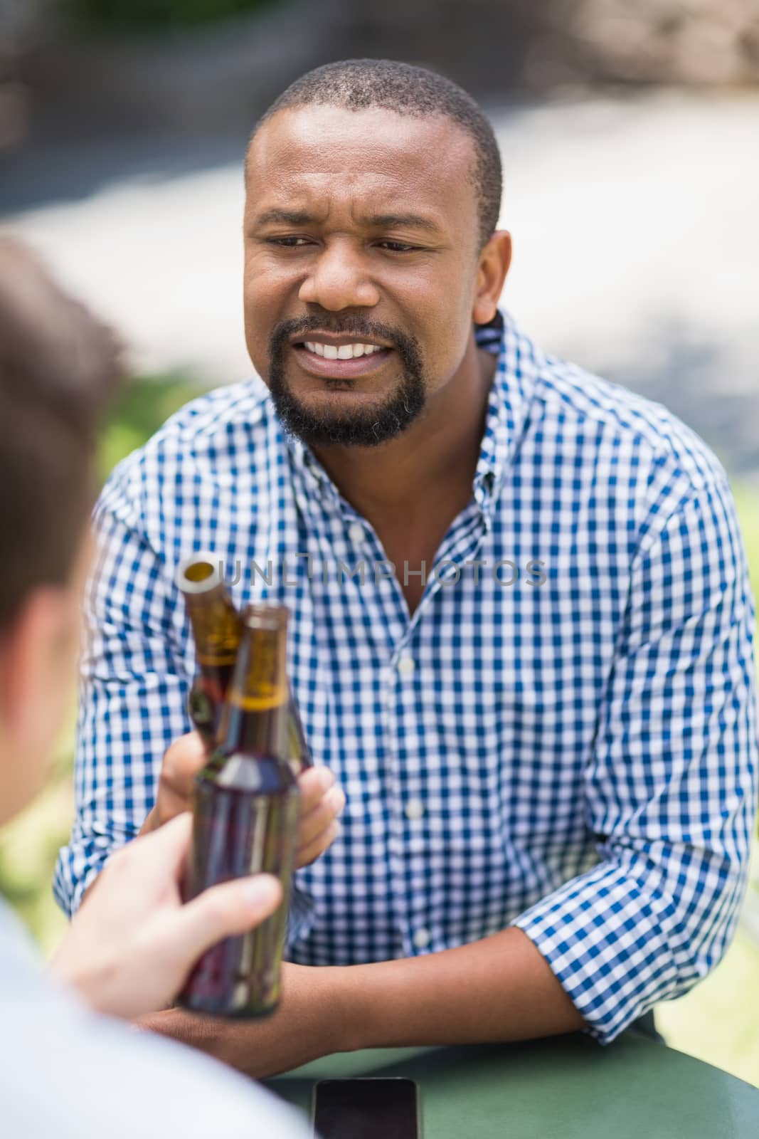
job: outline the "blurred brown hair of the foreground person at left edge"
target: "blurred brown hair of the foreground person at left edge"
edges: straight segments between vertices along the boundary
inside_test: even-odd
[[[0,633],[30,590],[71,575],[97,426],[122,377],[114,334],[0,235]]]

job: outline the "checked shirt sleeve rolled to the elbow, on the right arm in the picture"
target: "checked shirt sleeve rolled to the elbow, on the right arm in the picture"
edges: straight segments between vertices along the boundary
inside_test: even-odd
[[[652,526],[584,772],[601,861],[520,915],[602,1043],[723,957],[757,802],[754,613],[724,478]]]

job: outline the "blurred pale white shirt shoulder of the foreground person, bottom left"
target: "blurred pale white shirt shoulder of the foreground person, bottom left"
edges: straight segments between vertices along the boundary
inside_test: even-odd
[[[3,1134],[305,1139],[305,1123],[200,1052],[96,1016],[51,982],[0,901]]]

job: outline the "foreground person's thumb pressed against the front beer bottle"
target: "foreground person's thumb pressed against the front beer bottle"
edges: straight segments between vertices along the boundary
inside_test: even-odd
[[[175,944],[195,961],[223,937],[261,925],[281,901],[281,883],[270,874],[212,886],[179,910],[173,929]]]

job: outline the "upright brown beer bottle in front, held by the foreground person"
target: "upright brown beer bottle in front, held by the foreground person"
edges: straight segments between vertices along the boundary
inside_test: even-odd
[[[226,694],[220,744],[195,782],[184,898],[266,871],[282,883],[279,909],[249,933],[200,958],[179,1002],[214,1016],[266,1016],[280,995],[299,792],[289,761],[287,608],[249,605]]]

